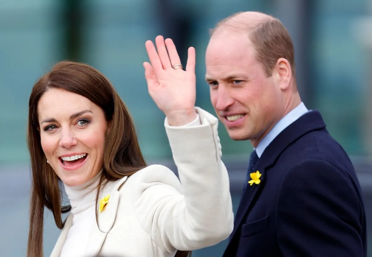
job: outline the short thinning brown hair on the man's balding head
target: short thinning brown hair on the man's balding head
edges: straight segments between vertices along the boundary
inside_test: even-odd
[[[279,58],[285,58],[291,65],[292,76],[296,78],[295,50],[291,35],[279,19],[267,15],[262,22],[250,24],[244,21],[231,22],[232,18],[244,12],[234,13],[217,23],[210,31],[213,35],[217,29],[224,27],[235,32],[248,32],[249,38],[257,52],[256,59],[263,65],[266,76],[272,75]],[[257,12],[260,13],[260,12]],[[235,19],[236,20],[236,19]]]

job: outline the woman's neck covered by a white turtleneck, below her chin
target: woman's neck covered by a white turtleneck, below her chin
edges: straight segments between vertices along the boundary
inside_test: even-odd
[[[80,211],[81,208],[89,207],[96,200],[97,186],[102,170],[91,180],[79,186],[67,186],[64,184],[65,192],[70,200],[71,212]]]

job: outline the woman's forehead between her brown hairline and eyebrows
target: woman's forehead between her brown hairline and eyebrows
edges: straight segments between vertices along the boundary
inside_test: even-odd
[[[46,116],[70,115],[81,110],[94,108],[94,103],[84,96],[61,89],[49,89],[38,103],[39,119]]]

